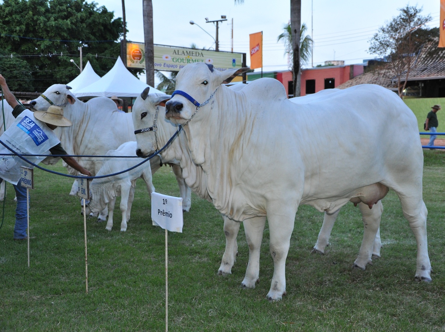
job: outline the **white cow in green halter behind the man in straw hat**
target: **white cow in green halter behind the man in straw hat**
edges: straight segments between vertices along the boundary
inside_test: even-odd
[[[130,113],[121,113],[115,110],[116,104],[109,98],[97,97],[88,102],[77,99],[65,84],[50,86],[40,97],[32,100],[29,105],[35,111],[46,110],[50,102],[61,105],[64,116],[71,120],[73,126],[56,128],[62,147],[70,155],[103,156],[109,150],[117,149],[122,143],[134,141],[134,127]],[[102,160],[96,157],[76,158],[77,162],[93,174],[101,168]],[[158,168],[153,167],[155,172]],[[182,178],[181,168],[173,166],[174,174],[179,185],[179,192],[183,198],[183,209],[190,209],[190,189]],[[70,174],[76,171],[68,167]],[[105,211],[99,219],[104,221]]]

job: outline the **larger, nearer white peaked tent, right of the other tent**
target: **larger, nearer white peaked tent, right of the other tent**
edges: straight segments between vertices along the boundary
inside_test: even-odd
[[[113,68],[100,80],[74,92],[81,97],[138,97],[149,86],[131,74],[124,66],[121,57],[117,57]],[[163,93],[150,86],[150,93]]]

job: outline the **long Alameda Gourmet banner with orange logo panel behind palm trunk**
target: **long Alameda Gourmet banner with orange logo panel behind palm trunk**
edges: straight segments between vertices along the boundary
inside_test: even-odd
[[[154,45],[155,70],[179,71],[186,64],[192,62],[205,62],[213,65],[214,69],[219,71],[241,68],[243,53]],[[127,43],[127,67],[145,69],[144,43]]]

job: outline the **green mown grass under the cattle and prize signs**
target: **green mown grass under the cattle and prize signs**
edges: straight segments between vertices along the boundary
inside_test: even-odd
[[[444,122],[445,123],[445,122]],[[65,172],[61,164],[50,167]],[[159,193],[178,196],[171,168],[154,175]],[[151,224],[138,182],[132,217],[111,232],[87,220],[89,293],[85,294],[84,226],[72,180],[35,171],[31,191],[30,268],[26,242],[12,241],[15,203],[8,185],[0,229],[0,331],[164,331],[164,230]],[[312,254],[322,213],[300,206],[286,263],[287,295],[265,297],[273,274],[268,229],[261,282],[240,287],[248,248],[243,226],[232,275],[218,276],[223,219],[194,194],[183,233],[169,233],[170,331],[445,331],[445,153],[425,151],[432,283],[416,283],[416,242],[393,191],[384,198],[381,258],[352,269],[363,236],[358,208],[341,209],[324,255]],[[118,204],[116,204],[118,206]]]

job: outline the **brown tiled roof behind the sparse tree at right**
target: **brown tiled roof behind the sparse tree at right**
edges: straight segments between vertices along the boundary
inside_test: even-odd
[[[425,42],[411,67],[408,81],[445,78],[445,48],[437,47],[439,38]],[[397,78],[390,70],[370,70],[337,86],[345,89],[357,84],[379,84],[397,90]]]

